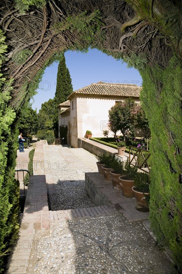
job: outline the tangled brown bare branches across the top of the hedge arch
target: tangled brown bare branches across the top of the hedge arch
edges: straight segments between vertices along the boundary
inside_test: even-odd
[[[132,0],[128,2],[133,3]],[[70,14],[80,14],[87,10],[89,16],[96,9],[100,10],[102,15],[103,25],[100,33],[103,35],[94,34],[95,41],[90,46],[105,49],[113,54],[118,53],[121,57],[122,54],[130,56],[131,52],[137,55],[146,54],[149,62],[165,67],[172,55],[174,44],[167,35],[160,38],[162,35],[159,26],[156,26],[152,19],[155,16],[155,5],[156,3],[150,5],[151,18],[150,16],[147,18],[141,10],[137,13],[137,10],[141,9],[140,6],[133,4],[136,9],[134,10],[124,0],[105,0],[104,4],[101,0],[96,2],[93,0],[63,0],[61,2],[49,0],[42,9],[34,8],[27,12],[19,12],[15,8],[15,2],[2,0],[0,26],[3,31],[6,31],[8,44],[7,62],[3,69],[9,78],[14,78],[14,86],[21,86],[25,76],[31,79],[32,75],[36,74],[38,68],[41,68],[54,52],[69,48],[77,49],[78,43],[85,48],[87,42],[81,38],[80,31],[66,29],[57,32],[54,26],[57,22],[66,23],[66,18]],[[160,1],[159,6],[161,6]],[[154,45],[158,43],[166,52],[166,57],[163,56],[162,59],[160,52],[156,54],[154,49]],[[175,48],[177,53],[181,54],[180,42]],[[31,54],[22,64],[18,65],[13,61],[13,57],[25,49],[30,50]],[[18,90],[15,91],[17,92]]]

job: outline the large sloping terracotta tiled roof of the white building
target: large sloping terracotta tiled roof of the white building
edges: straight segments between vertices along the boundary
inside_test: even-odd
[[[68,98],[72,98],[75,94],[88,96],[123,96],[139,98],[141,89],[141,87],[131,84],[112,84],[98,82],[92,83],[87,87],[72,92]]]

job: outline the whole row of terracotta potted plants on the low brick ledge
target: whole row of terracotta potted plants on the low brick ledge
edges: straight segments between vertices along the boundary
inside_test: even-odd
[[[149,175],[139,173],[136,166],[125,164],[110,153],[96,156],[99,175],[106,181],[112,181],[114,189],[122,190],[123,196],[136,198],[136,209],[149,211]]]

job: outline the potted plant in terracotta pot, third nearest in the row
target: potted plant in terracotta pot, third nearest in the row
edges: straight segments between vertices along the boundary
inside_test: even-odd
[[[119,184],[119,176],[124,173],[124,162],[122,162],[118,157],[112,162],[112,170],[110,170],[112,178],[113,189],[121,190],[122,186]]]

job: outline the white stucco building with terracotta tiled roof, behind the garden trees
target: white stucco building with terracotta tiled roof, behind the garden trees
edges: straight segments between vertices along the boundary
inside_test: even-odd
[[[78,147],[78,137],[85,137],[87,130],[92,137],[103,137],[103,130],[108,130],[110,108],[128,97],[139,102],[140,91],[141,87],[136,85],[104,82],[74,91],[68,101],[58,106],[59,126],[68,126],[68,143]]]

